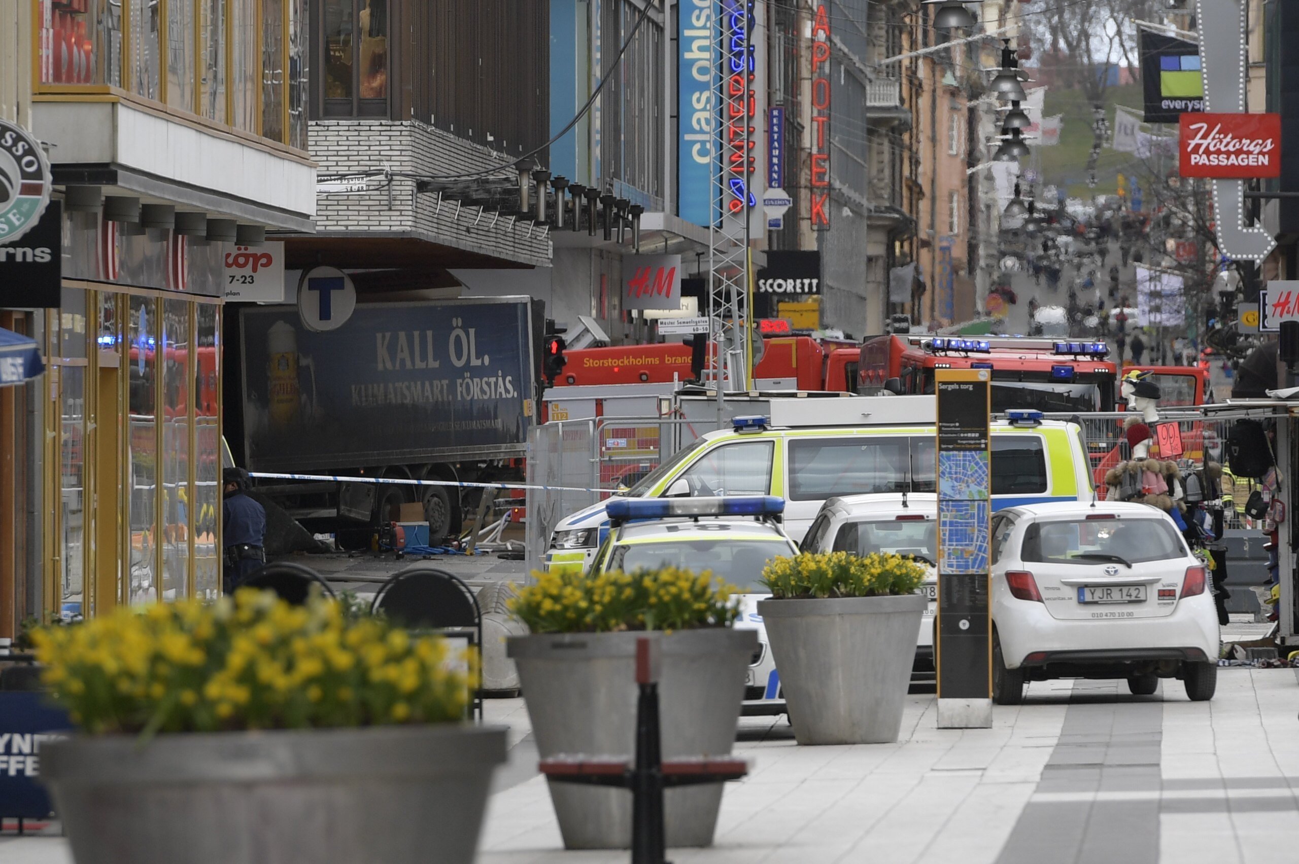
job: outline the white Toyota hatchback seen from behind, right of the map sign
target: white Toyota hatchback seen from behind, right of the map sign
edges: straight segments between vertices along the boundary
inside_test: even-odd
[[[1167,514],[1139,503],[1029,505],[992,516],[992,697],[1026,681],[1126,678],[1138,695],[1181,678],[1217,685],[1208,568]]]

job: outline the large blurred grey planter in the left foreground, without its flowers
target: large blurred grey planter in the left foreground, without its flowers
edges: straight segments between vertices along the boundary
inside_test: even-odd
[[[77,864],[470,864],[505,730],[69,738],[40,762]]]

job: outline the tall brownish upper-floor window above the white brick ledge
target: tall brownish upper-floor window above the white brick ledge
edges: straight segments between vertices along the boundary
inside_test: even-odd
[[[325,115],[386,115],[388,1],[325,0],[321,22]]]

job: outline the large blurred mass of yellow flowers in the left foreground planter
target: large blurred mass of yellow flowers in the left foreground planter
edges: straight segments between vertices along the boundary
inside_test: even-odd
[[[464,716],[477,675],[440,637],[253,589],[32,637],[44,684],[94,734],[446,723]]]

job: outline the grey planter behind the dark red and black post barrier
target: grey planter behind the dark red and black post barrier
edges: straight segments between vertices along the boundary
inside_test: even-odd
[[[659,704],[662,755],[721,756],[731,751],[744,699],[744,672],[757,650],[753,630],[713,628],[675,633],[570,633],[521,636],[508,653],[533,721],[538,755],[635,754],[637,640],[662,641]],[[627,848],[631,794],[551,784],[565,848]],[[722,784],[669,789],[668,846],[709,846]]]

